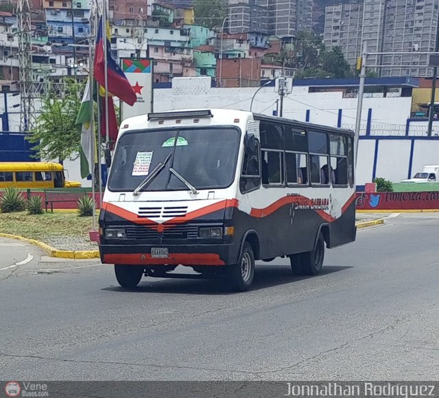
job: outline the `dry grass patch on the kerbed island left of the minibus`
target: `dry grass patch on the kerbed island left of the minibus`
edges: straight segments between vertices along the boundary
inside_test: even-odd
[[[97,224],[96,224],[97,225]],[[27,212],[0,213],[0,232],[47,242],[52,237],[83,238],[89,241],[92,217],[76,212],[54,212],[29,215]]]

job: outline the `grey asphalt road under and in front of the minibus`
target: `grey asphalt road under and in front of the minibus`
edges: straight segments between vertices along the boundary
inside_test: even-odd
[[[261,264],[247,293],[123,290],[109,266],[41,258],[0,280],[0,380],[434,380],[438,236],[436,214],[401,215],[327,251],[318,277]]]

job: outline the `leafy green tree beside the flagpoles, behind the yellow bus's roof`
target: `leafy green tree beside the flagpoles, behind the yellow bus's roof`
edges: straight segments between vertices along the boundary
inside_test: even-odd
[[[27,140],[35,144],[36,158],[60,161],[80,149],[81,133],[75,126],[84,84],[64,80],[64,93],[55,97],[49,92],[43,99],[41,113],[36,119],[34,132]]]

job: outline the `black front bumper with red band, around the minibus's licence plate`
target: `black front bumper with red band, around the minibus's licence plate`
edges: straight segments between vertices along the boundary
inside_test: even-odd
[[[154,258],[151,249],[168,249],[166,258]],[[225,266],[235,264],[237,245],[100,245],[103,264]]]

